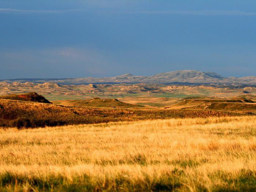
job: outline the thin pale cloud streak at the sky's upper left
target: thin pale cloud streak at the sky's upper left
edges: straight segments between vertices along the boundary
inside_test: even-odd
[[[82,9],[67,9],[67,10],[24,10],[24,9],[8,9],[0,8],[0,13],[27,13],[27,14],[62,14],[65,12],[83,11]]]

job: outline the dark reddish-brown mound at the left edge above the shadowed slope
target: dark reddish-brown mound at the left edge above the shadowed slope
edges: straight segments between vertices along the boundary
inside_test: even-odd
[[[38,95],[36,92],[30,92],[25,94],[11,94],[11,95],[2,95],[0,99],[10,99],[10,100],[19,100],[19,101],[31,101],[38,103],[51,103],[42,95]]]

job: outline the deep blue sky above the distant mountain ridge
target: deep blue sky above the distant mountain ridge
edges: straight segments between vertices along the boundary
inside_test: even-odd
[[[0,79],[256,76],[255,0],[0,0]]]

